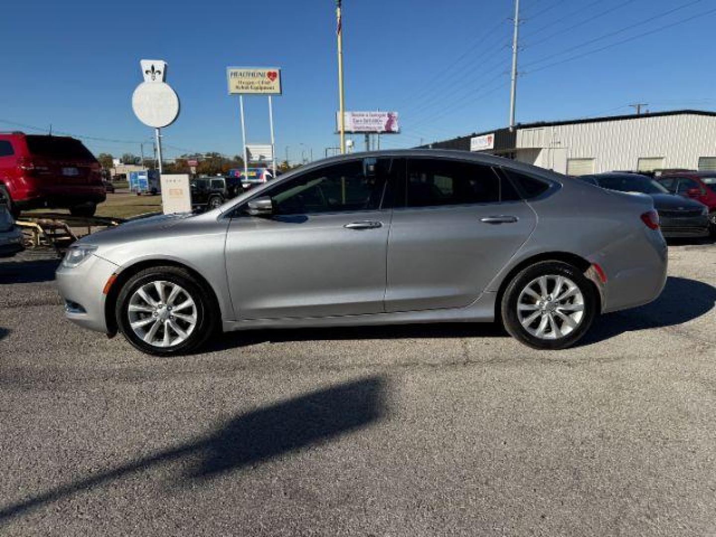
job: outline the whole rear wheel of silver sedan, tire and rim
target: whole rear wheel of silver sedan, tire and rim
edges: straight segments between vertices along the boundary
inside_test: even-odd
[[[505,329],[534,349],[566,349],[589,330],[599,307],[594,283],[575,266],[542,261],[517,274],[501,304]]]

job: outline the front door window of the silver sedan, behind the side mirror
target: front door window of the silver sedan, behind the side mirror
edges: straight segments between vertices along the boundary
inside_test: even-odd
[[[352,160],[299,175],[270,195],[275,214],[297,215],[377,209],[382,193],[382,181]]]

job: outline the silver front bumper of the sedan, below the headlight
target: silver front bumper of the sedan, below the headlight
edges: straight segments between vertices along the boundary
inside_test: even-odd
[[[102,291],[118,266],[98,256],[90,256],[79,266],[57,269],[57,286],[64,299],[64,316],[83,328],[107,334],[105,300]]]

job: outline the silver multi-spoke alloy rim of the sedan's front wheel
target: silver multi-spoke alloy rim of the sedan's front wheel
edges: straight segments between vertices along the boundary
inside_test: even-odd
[[[176,347],[196,328],[194,299],[173,281],[151,281],[137,289],[127,306],[132,332],[153,347]]]

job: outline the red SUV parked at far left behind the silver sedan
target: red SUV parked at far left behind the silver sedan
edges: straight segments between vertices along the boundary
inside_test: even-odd
[[[100,163],[79,140],[0,132],[0,202],[15,218],[40,207],[93,216],[106,198]]]

